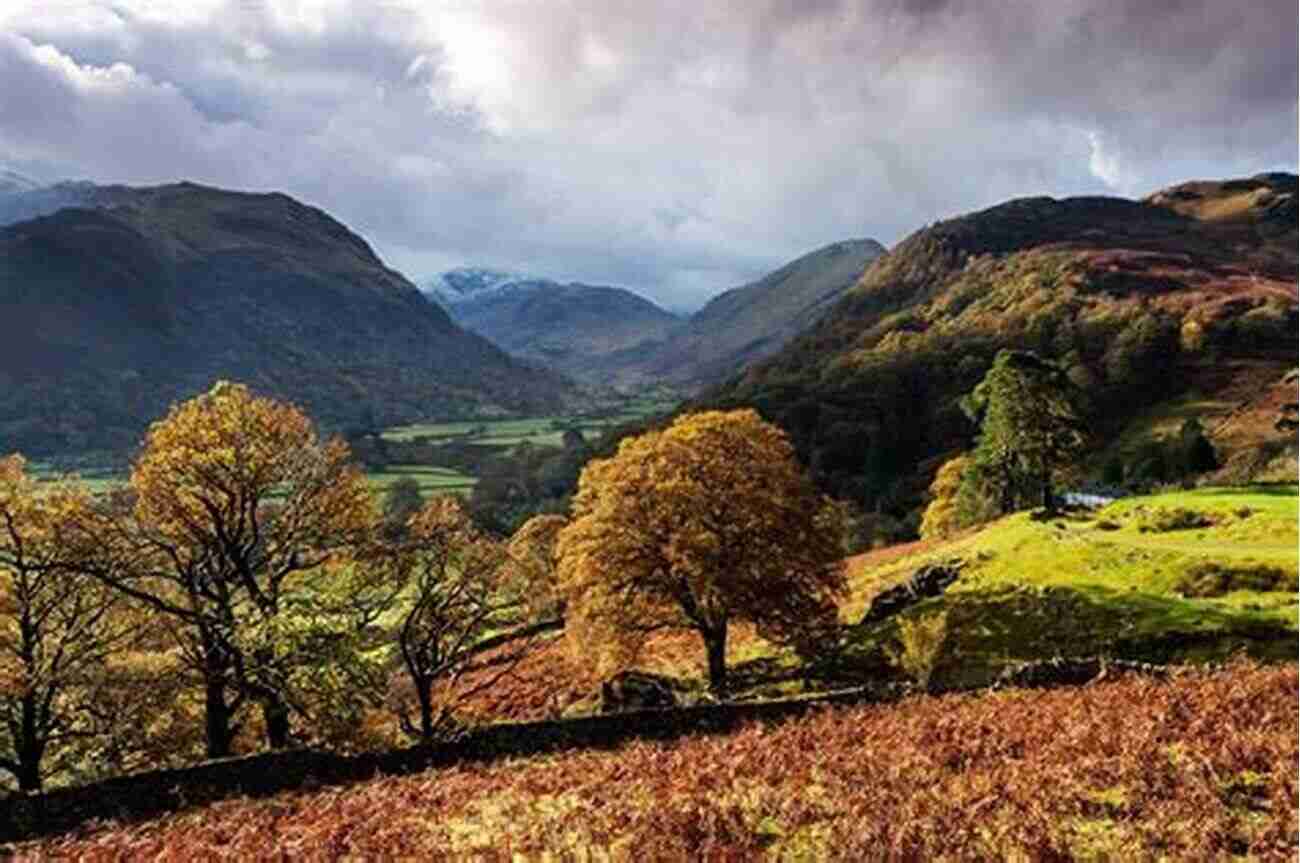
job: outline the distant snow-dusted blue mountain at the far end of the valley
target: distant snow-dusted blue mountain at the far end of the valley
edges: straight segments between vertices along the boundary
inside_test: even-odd
[[[655,347],[681,324],[621,287],[499,270],[451,270],[424,290],[502,350],[592,383],[610,382],[623,357]]]

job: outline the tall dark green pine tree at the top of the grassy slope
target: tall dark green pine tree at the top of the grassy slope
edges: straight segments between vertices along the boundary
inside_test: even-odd
[[[1028,351],[1000,351],[962,408],[979,422],[967,481],[1002,512],[1037,499],[1053,511],[1053,478],[1083,451],[1079,394],[1056,364]]]

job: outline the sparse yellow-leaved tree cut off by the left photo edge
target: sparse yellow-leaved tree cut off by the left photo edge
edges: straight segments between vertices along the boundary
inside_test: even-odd
[[[112,732],[109,663],[140,633],[122,597],[83,573],[86,548],[60,535],[87,507],[83,487],[38,491],[21,456],[0,459],[0,768],[25,792],[51,754]]]

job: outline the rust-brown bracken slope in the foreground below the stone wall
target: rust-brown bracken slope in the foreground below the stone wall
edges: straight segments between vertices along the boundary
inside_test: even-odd
[[[1292,859],[1296,671],[910,698],[231,799],[16,859]]]

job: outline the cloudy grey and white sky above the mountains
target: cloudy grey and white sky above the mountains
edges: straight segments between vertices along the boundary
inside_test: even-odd
[[[1290,0],[0,0],[0,166],[694,307],[1022,195],[1296,170]]]

